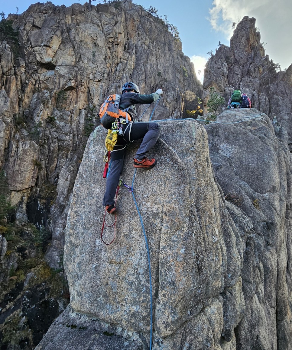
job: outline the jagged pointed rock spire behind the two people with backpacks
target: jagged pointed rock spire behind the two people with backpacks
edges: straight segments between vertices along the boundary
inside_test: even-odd
[[[265,55],[255,23],[254,18],[245,16],[230,39],[230,47],[221,45],[209,58],[204,71],[204,112],[210,87],[215,87],[226,104],[233,90],[240,89],[250,97],[252,107],[267,114],[271,120],[277,116],[287,129],[291,144],[292,64],[286,71],[276,72],[269,56]]]

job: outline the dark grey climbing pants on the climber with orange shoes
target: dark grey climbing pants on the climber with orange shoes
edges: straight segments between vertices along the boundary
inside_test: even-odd
[[[119,135],[116,146],[110,152],[111,165],[107,177],[106,193],[103,197],[103,205],[114,205],[115,195],[120,175],[123,169],[125,150],[127,146],[142,139],[141,145],[136,152],[135,158],[142,160],[150,149],[156,144],[161,132],[161,126],[156,122],[123,124],[123,135]]]

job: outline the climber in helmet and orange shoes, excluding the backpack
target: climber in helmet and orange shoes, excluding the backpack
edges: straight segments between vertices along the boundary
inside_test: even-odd
[[[143,139],[134,158],[134,168],[151,169],[156,165],[156,160],[154,158],[148,159],[146,155],[156,144],[161,132],[161,126],[154,122],[138,123],[135,104],[155,102],[162,93],[163,91],[158,89],[149,95],[140,94],[138,86],[132,82],[127,82],[122,87],[120,109],[126,110],[128,108],[127,112],[131,117],[131,121],[127,123],[125,118],[119,118],[119,127],[122,130],[122,134],[118,135],[117,142],[110,152],[111,167],[107,178],[106,192],[103,197],[103,205],[109,214],[113,214],[116,211],[114,197],[123,169],[125,149],[130,142]]]

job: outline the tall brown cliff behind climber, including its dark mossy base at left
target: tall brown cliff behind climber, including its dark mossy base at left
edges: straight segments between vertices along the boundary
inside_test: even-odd
[[[31,349],[68,303],[67,213],[100,104],[133,80],[142,93],[164,90],[153,119],[177,118],[183,92],[202,96],[202,85],[165,23],[131,1],[36,3],[8,20],[0,36],[0,342]]]

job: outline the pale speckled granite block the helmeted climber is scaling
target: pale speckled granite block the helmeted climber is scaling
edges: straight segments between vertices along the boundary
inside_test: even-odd
[[[204,127],[186,120],[161,125],[152,152],[158,164],[137,170],[134,182],[151,256],[153,349],[195,343],[198,349],[220,349],[219,342],[234,342],[245,309],[242,240],[213,175]],[[133,339],[139,337],[147,348],[147,252],[133,198],[124,187],[117,201],[123,213],[117,216],[117,237],[109,246],[100,239],[104,181],[96,174],[103,171],[104,133],[97,127],[91,134],[71,198],[64,248],[71,306],[133,331]],[[129,147],[122,173],[128,184],[136,147]],[[104,239],[112,235],[113,228],[107,229]]]

